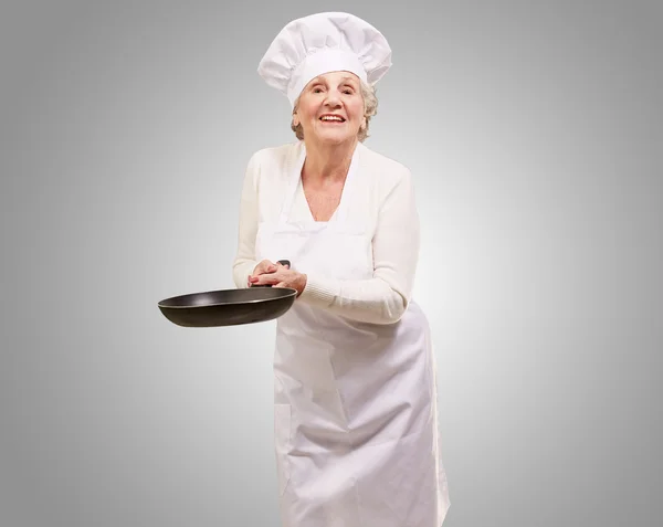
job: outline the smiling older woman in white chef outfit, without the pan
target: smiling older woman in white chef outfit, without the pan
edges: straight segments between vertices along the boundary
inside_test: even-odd
[[[259,66],[297,140],[249,161],[233,277],[297,291],[274,354],[285,527],[440,527],[450,506],[431,335],[412,301],[412,177],[364,145],[390,65],[372,25],[318,13],[288,23]]]

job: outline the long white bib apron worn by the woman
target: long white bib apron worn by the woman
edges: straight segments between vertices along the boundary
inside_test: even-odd
[[[329,222],[288,222],[305,152],[256,257],[299,272],[372,276],[371,235],[346,222],[357,149]],[[358,203],[360,207],[360,204]],[[297,299],[277,319],[274,432],[284,527],[440,527],[449,508],[439,456],[435,363],[411,303],[392,325],[357,323]]]

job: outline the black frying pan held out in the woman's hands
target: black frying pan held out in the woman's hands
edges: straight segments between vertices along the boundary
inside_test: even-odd
[[[290,265],[290,261],[280,260]],[[296,289],[254,285],[173,296],[158,303],[168,320],[182,327],[238,326],[272,320],[294,304]]]

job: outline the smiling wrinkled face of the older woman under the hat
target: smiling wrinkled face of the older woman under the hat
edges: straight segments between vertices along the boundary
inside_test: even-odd
[[[307,140],[339,144],[357,138],[366,126],[359,77],[330,72],[311,81],[299,95],[295,126],[302,125]]]

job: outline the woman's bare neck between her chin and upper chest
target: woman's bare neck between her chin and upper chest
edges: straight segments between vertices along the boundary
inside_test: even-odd
[[[338,145],[320,145],[305,140],[306,159],[302,176],[318,182],[345,180],[357,143],[356,138]]]

